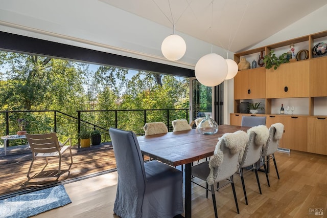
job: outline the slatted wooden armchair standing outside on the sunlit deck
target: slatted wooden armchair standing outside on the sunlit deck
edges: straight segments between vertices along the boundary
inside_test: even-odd
[[[30,145],[32,151],[32,162],[27,172],[27,177],[30,177],[30,172],[34,160],[37,157],[45,158],[46,164],[48,164],[48,157],[59,157],[59,168],[58,168],[58,177],[60,176],[60,167],[61,167],[61,156],[65,150],[69,148],[71,154],[71,163],[73,163],[72,156],[72,139],[68,138],[64,143],[60,143],[57,138],[56,133],[47,133],[47,134],[25,134],[27,141]],[[69,142],[69,145],[65,145]]]

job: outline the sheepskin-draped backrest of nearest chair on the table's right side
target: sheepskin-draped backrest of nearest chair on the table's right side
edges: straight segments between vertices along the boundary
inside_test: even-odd
[[[239,155],[247,141],[248,135],[241,130],[219,138],[214,156],[209,161],[211,172],[207,178],[208,184],[225,180],[238,170]]]

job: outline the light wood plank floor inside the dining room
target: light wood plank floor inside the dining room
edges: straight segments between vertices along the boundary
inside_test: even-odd
[[[280,180],[270,163],[270,187],[264,172],[259,172],[262,195],[254,172],[245,174],[249,204],[246,205],[240,177],[235,185],[240,207],[237,214],[230,185],[216,192],[220,217],[327,217],[327,156],[291,151],[276,152]],[[116,172],[64,185],[71,204],[37,215],[37,217],[115,217],[113,203],[116,191]],[[192,217],[214,217],[211,196],[193,184]],[[312,211],[321,211],[315,215]]]

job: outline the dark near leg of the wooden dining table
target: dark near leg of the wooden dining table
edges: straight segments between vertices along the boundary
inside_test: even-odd
[[[185,164],[184,173],[184,192],[185,192],[185,217],[192,217],[192,189],[191,189],[191,176],[192,164]]]

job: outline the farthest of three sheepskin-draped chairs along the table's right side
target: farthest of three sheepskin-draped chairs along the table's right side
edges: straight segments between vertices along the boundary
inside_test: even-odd
[[[269,128],[269,137],[267,143],[263,146],[262,149],[261,161],[264,165],[268,186],[270,186],[270,183],[269,183],[266,163],[271,159],[274,161],[277,177],[279,180],[279,174],[278,174],[274,152],[278,148],[279,140],[282,138],[283,133],[284,133],[284,125],[282,123],[272,124]]]

